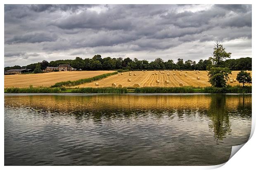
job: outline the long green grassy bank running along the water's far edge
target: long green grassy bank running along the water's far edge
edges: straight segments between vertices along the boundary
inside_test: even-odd
[[[251,86],[227,86],[223,88],[205,87],[100,87],[100,88],[65,88],[65,87],[28,87],[5,88],[5,93],[252,93]]]

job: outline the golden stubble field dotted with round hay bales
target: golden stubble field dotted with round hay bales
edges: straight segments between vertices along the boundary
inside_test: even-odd
[[[230,75],[231,79],[235,79],[237,77],[239,71],[232,71],[232,75]],[[251,71],[249,71],[251,73]],[[194,86],[194,87],[206,87],[211,86],[208,82],[208,73],[206,71],[200,71],[196,73],[195,71],[165,71],[164,74],[161,74],[159,70],[157,71],[131,71],[124,72],[123,75],[113,75],[107,77],[105,79],[101,79],[96,81],[99,86],[95,85],[95,82],[81,84],[79,87],[107,87],[112,86],[112,83],[116,83],[116,86],[121,84],[123,87],[132,87],[134,84],[140,84],[140,87],[178,87],[180,83],[183,83],[183,86]],[[154,73],[154,75],[152,75]],[[155,74],[157,73],[157,75]],[[175,75],[173,75],[175,73]],[[136,75],[134,75],[136,74]],[[168,75],[170,74],[170,75]],[[181,74],[181,75],[180,75]],[[187,75],[185,77],[185,74]],[[199,77],[200,79],[197,79]],[[130,79],[130,82],[128,82]],[[156,83],[156,80],[159,80],[159,83]],[[165,81],[168,80],[169,83],[166,84]],[[228,84],[235,86],[239,84],[237,81]],[[76,86],[78,87],[78,86]]]

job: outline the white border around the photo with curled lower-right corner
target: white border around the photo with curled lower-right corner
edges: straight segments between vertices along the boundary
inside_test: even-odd
[[[148,0],[129,0],[129,1],[120,1],[120,0],[108,0],[108,1],[103,1],[103,0],[93,0],[93,1],[82,1],[82,0],[72,0],[72,1],[67,1],[67,0],[38,0],[38,1],[34,1],[34,0],[23,0],[23,1],[18,1],[18,0],[3,0],[2,1],[3,4],[1,5],[1,20],[2,20],[2,34],[1,34],[1,42],[2,42],[2,62],[0,62],[0,67],[3,69],[4,68],[4,4],[170,4],[170,1],[168,0],[157,0],[154,1],[156,3],[152,3],[149,2]],[[208,1],[203,1],[203,0],[193,0],[193,1],[189,1],[189,0],[173,0],[171,1],[171,4],[252,4],[252,28],[255,28],[255,22],[254,22],[254,10],[255,10],[255,1],[252,0],[243,0],[243,1],[239,1],[239,0],[232,0],[232,1],[228,1],[228,0],[208,0]],[[252,29],[254,30],[254,29]],[[254,33],[252,33],[252,35],[254,36]],[[254,56],[254,47],[255,47],[255,41],[254,38],[252,38],[252,56]],[[253,59],[253,68],[255,66],[255,60]],[[255,72],[253,70],[253,74],[255,75]],[[1,74],[2,77],[2,81],[0,84],[0,88],[2,89],[2,93],[1,93],[1,98],[2,98],[2,102],[1,102],[1,108],[3,111],[4,108],[4,93],[3,93],[3,89],[4,89],[4,75]],[[255,82],[255,76],[252,77],[253,78],[253,82]],[[255,105],[254,105],[254,92],[255,92],[255,88],[253,86],[253,107],[252,107],[252,112],[253,112],[253,116],[252,116],[252,132],[253,133],[254,129],[255,129]],[[1,140],[1,165],[4,166],[4,112],[2,113],[2,119],[1,121],[1,131],[2,131],[2,140]],[[213,168],[218,168],[219,169],[251,169],[251,167],[254,167],[255,163],[255,143],[256,143],[256,137],[255,135],[251,136],[251,139],[242,147],[242,149],[240,149],[238,151],[237,154],[235,154],[227,163],[225,163],[224,166],[221,165],[216,165],[216,166],[172,166],[172,167],[168,167],[168,166],[161,166],[161,167],[147,167],[147,166],[133,166],[133,167],[129,167],[129,166],[111,166],[111,167],[106,167],[106,166],[88,166],[86,167],[86,169],[95,169],[95,168],[100,168],[100,169],[107,169],[107,170],[117,170],[117,169],[124,169],[124,170],[128,170],[130,168],[133,169],[153,169],[153,168],[161,168],[161,169],[170,169],[170,168],[175,168],[175,169],[181,169],[181,170],[185,170],[185,169],[191,169],[191,170],[198,170],[198,169],[213,169]],[[5,166],[5,169],[16,169],[16,168],[21,168],[21,169],[34,169],[35,167],[30,166],[23,166],[23,167],[18,167],[18,166]],[[36,167],[37,169],[45,169],[46,167],[41,166],[41,167]],[[56,168],[62,168],[62,170],[68,170],[70,168],[72,169],[84,169],[85,167],[83,166],[73,166],[73,167],[68,167],[68,166],[62,166],[62,167],[47,167],[47,169],[56,169]]]

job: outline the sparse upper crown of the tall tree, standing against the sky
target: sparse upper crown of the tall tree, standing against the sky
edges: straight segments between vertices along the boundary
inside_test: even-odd
[[[213,57],[211,57],[211,60],[216,67],[219,67],[226,58],[230,58],[231,53],[227,53],[223,45],[219,44],[218,41],[216,41],[216,44],[214,45],[215,47],[213,48],[212,54]]]

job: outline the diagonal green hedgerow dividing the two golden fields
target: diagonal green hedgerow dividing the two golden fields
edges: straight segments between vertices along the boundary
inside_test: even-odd
[[[79,80],[76,80],[76,81],[58,82],[58,83],[55,83],[55,85],[53,85],[51,87],[77,86],[77,85],[80,85],[80,84],[90,83],[90,82],[100,80],[100,79],[106,78],[106,77],[111,76],[111,75],[116,75],[116,74],[117,74],[117,72],[111,72],[111,73],[106,73],[106,74],[103,74],[103,75],[98,75],[98,76],[90,77],[90,78],[86,78],[86,79],[79,79]]]

